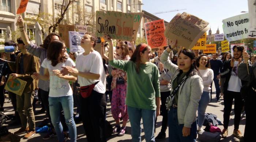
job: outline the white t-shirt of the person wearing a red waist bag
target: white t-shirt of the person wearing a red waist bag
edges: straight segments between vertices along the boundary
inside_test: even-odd
[[[106,92],[106,76],[99,52],[93,51],[86,56],[84,56],[83,53],[79,53],[76,57],[76,69],[81,72],[90,72],[100,75],[99,79],[87,79],[78,75],[78,83],[80,86],[91,85],[99,81],[93,90],[99,93]]]

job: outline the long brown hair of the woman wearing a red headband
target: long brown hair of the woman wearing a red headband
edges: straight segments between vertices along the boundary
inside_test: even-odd
[[[136,46],[136,49],[133,52],[132,57],[130,59],[133,63],[136,64],[135,69],[138,74],[140,73],[140,64],[141,64],[141,58],[140,58],[140,47],[141,46],[142,46],[142,44],[139,44],[138,46]],[[144,53],[148,48],[149,48],[149,46],[144,48],[141,52]]]

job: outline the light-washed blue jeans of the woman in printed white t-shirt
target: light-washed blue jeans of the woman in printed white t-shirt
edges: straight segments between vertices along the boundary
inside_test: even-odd
[[[52,124],[56,131],[59,142],[64,142],[63,127],[60,122],[61,106],[64,111],[64,117],[69,130],[69,137],[71,142],[76,142],[76,124],[73,118],[73,96],[50,97],[49,96],[49,109]]]

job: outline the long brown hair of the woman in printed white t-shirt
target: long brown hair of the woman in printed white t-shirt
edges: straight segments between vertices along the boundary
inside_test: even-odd
[[[64,63],[66,61],[65,56],[61,56],[63,49],[63,42],[60,40],[54,40],[49,44],[47,50],[47,59],[52,62],[52,66],[55,67],[59,62]]]

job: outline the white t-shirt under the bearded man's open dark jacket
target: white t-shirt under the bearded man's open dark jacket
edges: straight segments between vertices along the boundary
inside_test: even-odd
[[[239,79],[237,76],[238,63],[238,61],[235,61],[234,63],[234,67],[232,68],[231,76],[229,79],[229,86],[227,87],[227,90],[233,92],[240,92],[240,89],[242,87],[241,79]]]

